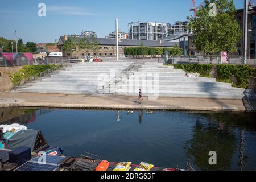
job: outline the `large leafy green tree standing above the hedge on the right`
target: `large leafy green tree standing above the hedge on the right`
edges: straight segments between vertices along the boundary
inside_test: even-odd
[[[210,3],[217,6],[217,16],[210,16]],[[217,51],[236,52],[242,32],[236,18],[233,0],[205,0],[197,11],[197,17],[188,17],[193,31],[193,44],[210,55]]]

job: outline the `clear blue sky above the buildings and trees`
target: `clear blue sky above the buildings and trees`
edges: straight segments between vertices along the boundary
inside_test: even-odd
[[[192,0],[0,0],[0,36],[13,39],[15,30],[23,42],[54,42],[60,36],[95,31],[100,38],[115,30],[127,31],[128,22],[175,23],[186,20]],[[196,0],[196,4],[203,0]],[[46,17],[38,16],[38,4],[45,3]],[[242,0],[234,0],[238,9]]]

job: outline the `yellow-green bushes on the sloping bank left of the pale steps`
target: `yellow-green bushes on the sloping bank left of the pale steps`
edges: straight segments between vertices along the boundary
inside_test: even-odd
[[[39,77],[39,73],[45,72],[47,69],[55,71],[61,67],[63,67],[63,65],[26,65],[16,73],[9,73],[9,77],[13,86],[20,86],[20,84],[22,84],[22,80],[27,81],[30,77]]]

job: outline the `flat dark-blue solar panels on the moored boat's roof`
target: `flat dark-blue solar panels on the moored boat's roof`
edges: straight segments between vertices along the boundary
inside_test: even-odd
[[[52,156],[45,155],[46,162],[40,164],[42,162],[42,156],[38,156],[30,161],[24,163],[22,166],[18,167],[15,171],[55,171],[58,167],[58,163],[64,159],[63,156]]]

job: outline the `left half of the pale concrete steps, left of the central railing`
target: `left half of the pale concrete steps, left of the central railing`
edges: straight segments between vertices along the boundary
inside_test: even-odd
[[[79,63],[60,71],[42,82],[32,83],[23,92],[63,93],[63,94],[102,94],[109,82],[115,80],[134,63]],[[112,92],[112,91],[111,91]]]

